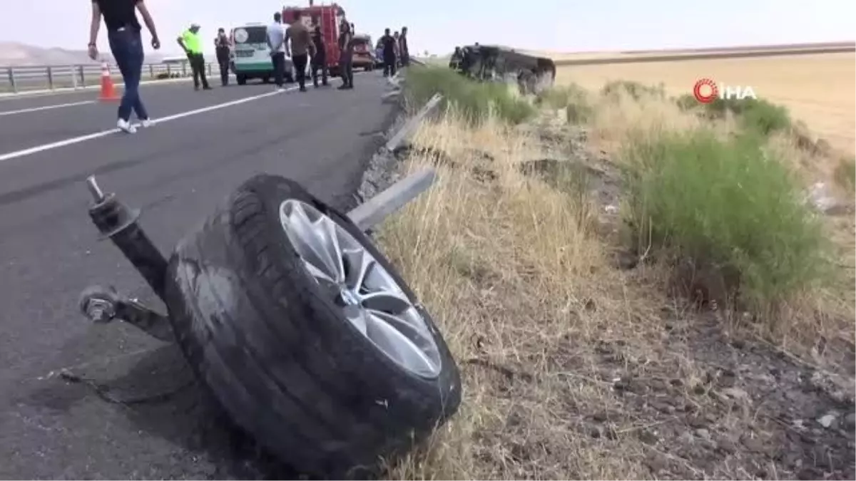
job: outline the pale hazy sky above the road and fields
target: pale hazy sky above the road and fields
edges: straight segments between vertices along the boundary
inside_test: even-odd
[[[282,8],[267,0],[145,1],[166,54],[181,51],[175,37],[192,21],[213,39],[217,27],[266,23]],[[288,4],[307,5],[308,0]],[[410,49],[420,54],[428,50],[444,55],[455,45],[473,42],[590,51],[856,40],[853,0],[342,0],[339,4],[358,33],[375,39],[384,27],[399,30],[406,25]],[[3,10],[0,40],[86,49],[91,15],[86,0],[18,2],[14,9]],[[45,22],[54,27],[45,29]],[[98,45],[107,49],[103,27]],[[205,45],[213,50],[213,43]]]

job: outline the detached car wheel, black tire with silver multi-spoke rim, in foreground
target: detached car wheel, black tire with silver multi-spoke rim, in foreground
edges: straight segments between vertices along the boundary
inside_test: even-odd
[[[199,378],[301,472],[374,472],[461,402],[455,360],[395,268],[294,181],[241,185],[176,246],[166,281]]]

